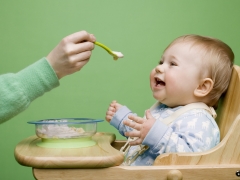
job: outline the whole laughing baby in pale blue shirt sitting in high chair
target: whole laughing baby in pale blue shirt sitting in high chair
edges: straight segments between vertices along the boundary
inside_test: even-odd
[[[220,132],[214,108],[229,85],[233,61],[231,48],[218,39],[199,35],[175,39],[150,74],[157,103],[145,117],[116,101],[107,110],[106,120],[129,137],[122,149],[123,165],[149,166],[163,153],[216,146]]]

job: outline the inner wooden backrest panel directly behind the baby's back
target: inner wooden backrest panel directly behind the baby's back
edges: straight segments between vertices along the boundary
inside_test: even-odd
[[[222,140],[235,118],[240,114],[240,67],[237,65],[233,67],[228,90],[221,98],[219,106],[216,121],[220,129]]]

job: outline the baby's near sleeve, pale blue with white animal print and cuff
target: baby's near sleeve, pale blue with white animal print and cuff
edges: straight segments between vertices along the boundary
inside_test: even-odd
[[[219,129],[208,115],[196,113],[182,117],[170,126],[156,121],[143,140],[143,144],[150,147],[151,153],[201,152],[219,142]]]

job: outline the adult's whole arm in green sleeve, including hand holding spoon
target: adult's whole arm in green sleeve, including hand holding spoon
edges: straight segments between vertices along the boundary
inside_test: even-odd
[[[47,58],[22,71],[0,76],[0,123],[25,110],[31,101],[79,71],[90,59],[94,35],[79,31],[63,38]]]

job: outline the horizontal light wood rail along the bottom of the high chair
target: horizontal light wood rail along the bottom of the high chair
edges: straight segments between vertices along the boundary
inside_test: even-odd
[[[239,165],[116,166],[103,169],[33,169],[38,180],[239,180]],[[179,176],[179,172],[181,173]]]

